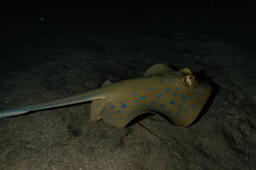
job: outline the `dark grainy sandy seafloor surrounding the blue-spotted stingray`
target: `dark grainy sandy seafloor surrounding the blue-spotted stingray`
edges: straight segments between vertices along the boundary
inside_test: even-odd
[[[124,14],[2,25],[0,110],[141,77],[164,63],[206,73],[215,94],[208,111],[186,128],[149,116],[140,120],[148,130],[92,123],[90,102],[3,118],[0,170],[255,170],[253,20]]]

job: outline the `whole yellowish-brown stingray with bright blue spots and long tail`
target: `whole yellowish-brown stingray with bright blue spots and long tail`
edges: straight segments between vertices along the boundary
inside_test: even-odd
[[[120,82],[106,80],[101,88],[1,111],[0,117],[92,101],[92,122],[104,119],[114,126],[125,127],[140,114],[156,113],[175,127],[187,127],[198,116],[211,91],[211,85],[205,81],[198,82],[189,68],[174,71],[168,65],[157,64],[148,68],[143,77]]]

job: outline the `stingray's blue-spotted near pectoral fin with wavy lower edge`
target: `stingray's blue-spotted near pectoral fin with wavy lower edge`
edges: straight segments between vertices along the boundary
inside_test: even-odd
[[[136,116],[157,113],[175,127],[189,126],[201,112],[212,87],[209,83],[195,81],[193,75],[186,77],[189,86],[173,88],[161,93],[157,89],[150,96],[141,91],[123,94],[124,98],[111,100],[98,116],[117,127],[125,127]]]

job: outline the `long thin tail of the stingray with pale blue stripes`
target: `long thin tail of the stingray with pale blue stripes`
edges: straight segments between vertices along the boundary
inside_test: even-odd
[[[36,110],[54,108],[54,107],[63,106],[63,105],[71,105],[74,103],[87,102],[95,99],[105,99],[105,95],[103,94],[105,92],[104,90],[106,91],[106,89],[104,88],[98,88],[98,89],[88,91],[82,94],[78,94],[75,96],[52,100],[49,102],[43,102],[36,105],[23,106],[21,108],[9,109],[6,111],[0,111],[0,118],[15,116],[15,115],[27,113],[29,111],[36,111]]]

